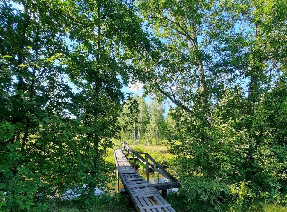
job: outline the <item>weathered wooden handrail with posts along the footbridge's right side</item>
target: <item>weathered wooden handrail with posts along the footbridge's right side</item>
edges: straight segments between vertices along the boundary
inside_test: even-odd
[[[162,176],[166,177],[167,179],[170,179],[172,182],[177,182],[177,179],[174,178],[169,172],[167,172],[167,170],[165,170],[165,168],[163,168],[158,162],[156,162],[156,160],[152,156],[150,156],[149,153],[138,152],[136,150],[133,150],[129,146],[128,142],[121,142],[121,151],[124,153],[125,156],[126,156],[126,149],[128,152],[128,157],[129,157],[129,152],[132,153],[134,163],[135,163],[135,157],[134,156],[137,156],[141,162],[146,164],[146,175],[147,175],[147,181],[148,182],[149,182],[149,177],[148,177],[149,167],[152,168],[153,170],[155,170],[156,172],[160,173]],[[142,157],[140,154],[144,154],[145,157]],[[150,161],[152,161],[152,163],[154,163],[155,165],[148,162],[148,159],[150,159]],[[157,166],[157,167],[155,167],[155,166]],[[134,164],[134,168],[135,168],[135,164]]]

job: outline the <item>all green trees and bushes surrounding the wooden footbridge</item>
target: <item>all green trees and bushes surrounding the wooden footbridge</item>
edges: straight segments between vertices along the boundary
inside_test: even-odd
[[[0,23],[0,210],[88,203],[115,137],[169,141],[186,210],[287,201],[286,0],[3,0]]]

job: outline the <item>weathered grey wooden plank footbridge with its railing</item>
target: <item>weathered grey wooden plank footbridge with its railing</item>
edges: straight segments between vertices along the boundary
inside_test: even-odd
[[[144,157],[141,155],[144,155]],[[114,150],[114,157],[115,166],[117,167],[117,176],[120,177],[125,188],[123,192],[129,194],[138,211],[175,212],[163,196],[167,195],[167,189],[178,188],[180,184],[177,182],[177,179],[168,173],[155,159],[148,153],[133,150],[128,142],[122,142],[121,148]],[[133,161],[134,167],[130,164],[131,160]],[[136,160],[140,160],[146,164],[146,180],[136,172]],[[155,170],[157,173],[169,179],[170,182],[149,183],[148,168]],[[119,190],[119,182],[117,186]],[[162,196],[158,193],[160,190],[162,191]]]

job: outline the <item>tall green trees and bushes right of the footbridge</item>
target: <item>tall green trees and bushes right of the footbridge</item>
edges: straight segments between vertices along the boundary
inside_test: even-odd
[[[165,134],[191,208],[286,202],[286,1],[137,4],[160,43],[138,67],[176,106]]]

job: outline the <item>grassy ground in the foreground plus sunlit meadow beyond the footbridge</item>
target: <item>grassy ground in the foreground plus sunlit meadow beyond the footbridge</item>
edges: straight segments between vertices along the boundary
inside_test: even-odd
[[[114,140],[115,148],[120,147],[120,141]],[[153,142],[152,144],[154,144]],[[133,149],[140,152],[147,152],[151,155],[157,162],[161,162],[164,159],[163,166],[165,168],[172,167],[174,168],[174,156],[168,152],[167,141],[159,142],[158,145],[145,145],[145,140],[141,140],[139,145],[132,145],[132,142],[129,142]],[[108,157],[106,158],[107,162],[114,163],[113,150],[110,149],[108,152]],[[137,161],[137,164],[140,169],[145,169],[145,165]],[[180,196],[176,193],[170,194],[167,197],[167,201],[172,205],[172,207],[178,212],[189,212],[189,211],[205,211],[203,207],[201,210],[191,209],[185,203],[184,196]],[[228,204],[223,205],[222,211],[230,211],[228,209]],[[53,201],[51,204],[51,211],[53,212],[134,212],[135,207],[133,206],[132,201],[129,196],[121,196],[120,194],[115,194],[111,196],[102,196],[97,198],[95,202],[90,205],[87,205],[83,201]],[[211,210],[212,211],[212,210]],[[234,210],[233,210],[234,211]],[[235,210],[237,211],[237,210]],[[246,205],[241,210],[238,211],[247,211],[247,212],[287,212],[287,205],[279,204],[269,204],[261,201],[253,202],[250,205]]]

